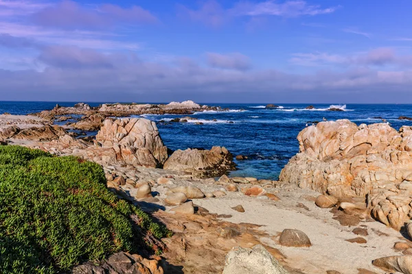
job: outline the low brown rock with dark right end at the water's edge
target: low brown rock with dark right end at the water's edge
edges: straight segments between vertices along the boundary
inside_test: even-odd
[[[165,162],[163,169],[186,171],[196,177],[217,177],[236,169],[233,155],[225,147],[210,150],[176,150]]]

